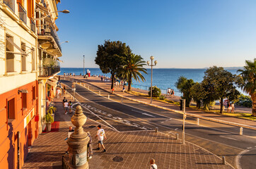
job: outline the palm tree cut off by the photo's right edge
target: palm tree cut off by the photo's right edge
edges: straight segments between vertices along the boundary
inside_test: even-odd
[[[256,59],[254,61],[245,61],[243,69],[239,69],[243,82],[240,87],[244,92],[250,94],[252,99],[252,116],[256,117]]]

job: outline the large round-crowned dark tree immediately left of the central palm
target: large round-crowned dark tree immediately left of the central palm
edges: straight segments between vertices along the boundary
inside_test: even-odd
[[[105,40],[104,44],[98,45],[95,63],[100,66],[103,73],[110,73],[112,76],[111,89],[114,86],[115,75],[120,72],[127,56],[132,51],[125,43],[120,41]]]

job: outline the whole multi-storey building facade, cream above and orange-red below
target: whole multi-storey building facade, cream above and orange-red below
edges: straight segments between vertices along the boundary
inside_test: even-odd
[[[0,0],[0,168],[21,168],[42,132],[62,56],[58,2]]]

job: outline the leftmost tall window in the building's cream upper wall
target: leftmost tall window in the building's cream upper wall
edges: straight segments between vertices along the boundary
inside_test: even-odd
[[[13,37],[6,35],[6,72],[14,72]]]

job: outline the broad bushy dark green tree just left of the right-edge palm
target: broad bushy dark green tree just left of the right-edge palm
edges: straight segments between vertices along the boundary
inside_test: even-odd
[[[223,99],[228,98],[233,101],[240,95],[240,92],[235,87],[236,82],[237,75],[233,75],[221,67],[214,66],[207,69],[204,72],[204,80],[202,81],[202,87],[206,92],[206,96],[203,99],[204,106],[220,99],[220,113],[222,113]]]

